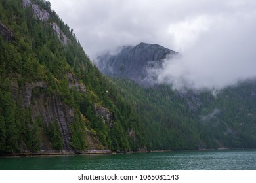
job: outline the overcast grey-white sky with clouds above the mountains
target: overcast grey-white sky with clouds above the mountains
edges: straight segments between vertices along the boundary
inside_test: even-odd
[[[140,42],[181,54],[160,82],[223,87],[256,76],[255,0],[50,0],[91,59]]]

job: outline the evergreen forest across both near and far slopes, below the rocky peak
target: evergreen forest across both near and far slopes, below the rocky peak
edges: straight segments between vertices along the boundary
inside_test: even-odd
[[[108,78],[43,0],[2,0],[0,33],[3,154],[256,148],[253,81],[215,97]]]

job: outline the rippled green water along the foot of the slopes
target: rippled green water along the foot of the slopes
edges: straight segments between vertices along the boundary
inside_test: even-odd
[[[0,169],[24,170],[256,170],[256,150],[151,152],[0,158]]]

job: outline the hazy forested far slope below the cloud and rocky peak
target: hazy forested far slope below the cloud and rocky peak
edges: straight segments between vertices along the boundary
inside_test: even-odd
[[[220,90],[216,97],[209,90],[175,92],[171,86],[112,82],[143,122],[138,131],[148,150],[256,148],[254,80]]]

